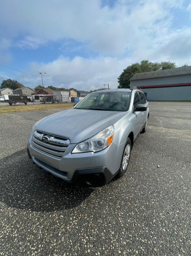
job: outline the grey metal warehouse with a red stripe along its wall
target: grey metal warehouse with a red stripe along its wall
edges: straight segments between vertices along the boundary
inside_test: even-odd
[[[130,86],[137,86],[148,101],[191,101],[191,66],[135,74]]]

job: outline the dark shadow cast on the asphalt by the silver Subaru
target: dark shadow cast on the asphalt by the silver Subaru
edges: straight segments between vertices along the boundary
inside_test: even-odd
[[[93,188],[77,187],[35,166],[22,149],[0,160],[0,201],[9,207],[51,212],[78,206]]]

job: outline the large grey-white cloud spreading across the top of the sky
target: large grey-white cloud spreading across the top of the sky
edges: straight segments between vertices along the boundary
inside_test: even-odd
[[[144,44],[155,38],[164,22],[168,28],[165,20],[170,21],[170,9],[180,8],[181,3],[118,0],[109,8],[102,7],[100,0],[4,0],[0,22],[3,35],[22,38],[17,42],[20,47],[35,49],[48,41],[70,38],[102,55],[122,56],[126,50],[135,50],[138,41]]]

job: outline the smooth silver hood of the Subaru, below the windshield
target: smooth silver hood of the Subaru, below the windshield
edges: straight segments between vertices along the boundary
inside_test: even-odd
[[[38,122],[35,130],[69,138],[71,143],[86,140],[116,123],[127,112],[82,110],[71,108],[47,116]]]

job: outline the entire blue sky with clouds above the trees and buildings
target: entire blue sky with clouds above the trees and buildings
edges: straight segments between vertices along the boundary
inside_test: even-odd
[[[43,71],[46,86],[116,88],[143,59],[191,65],[188,0],[2,0],[0,9],[0,64],[37,75],[0,66],[0,82],[34,88]]]

